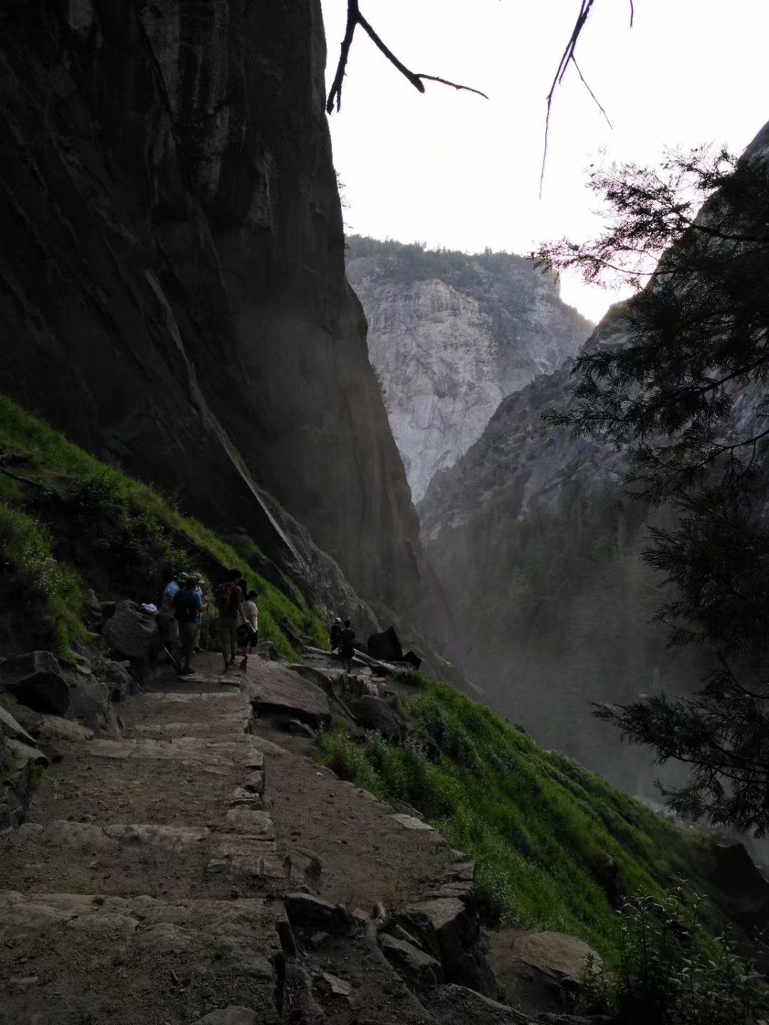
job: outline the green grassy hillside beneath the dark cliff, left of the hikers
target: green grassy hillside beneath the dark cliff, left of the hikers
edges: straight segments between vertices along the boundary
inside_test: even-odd
[[[259,634],[286,655],[278,627],[325,639],[318,610],[291,581],[285,590],[247,567],[257,549],[233,547],[170,500],[94,459],[41,420],[0,396],[0,598],[42,615],[51,643],[67,658],[73,640],[87,640],[83,598],[127,596],[158,602],[169,576],[239,566],[259,592]]]

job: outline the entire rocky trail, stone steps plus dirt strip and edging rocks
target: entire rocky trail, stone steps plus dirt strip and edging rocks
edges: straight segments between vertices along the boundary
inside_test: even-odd
[[[252,663],[57,737],[0,836],[0,1023],[526,1021],[484,995],[472,864],[316,765],[281,715],[309,732],[326,695]]]

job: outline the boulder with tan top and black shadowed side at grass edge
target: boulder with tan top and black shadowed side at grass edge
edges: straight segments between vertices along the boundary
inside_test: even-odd
[[[478,947],[477,917],[456,897],[422,901],[403,908],[396,920],[418,940],[423,950],[440,959],[444,978],[496,998],[499,986]]]

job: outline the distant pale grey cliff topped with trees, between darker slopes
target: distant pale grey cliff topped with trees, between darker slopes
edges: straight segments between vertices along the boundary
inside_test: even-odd
[[[414,501],[483,433],[501,400],[575,356],[592,325],[508,253],[348,238],[348,277]]]

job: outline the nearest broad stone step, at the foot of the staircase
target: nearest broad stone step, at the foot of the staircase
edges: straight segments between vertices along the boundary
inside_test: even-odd
[[[0,892],[0,1023],[196,1022],[241,1006],[278,1025],[282,905]]]

